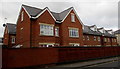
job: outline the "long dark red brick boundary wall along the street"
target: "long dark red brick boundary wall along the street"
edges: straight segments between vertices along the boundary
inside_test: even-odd
[[[56,64],[120,55],[120,47],[3,48],[2,68]]]

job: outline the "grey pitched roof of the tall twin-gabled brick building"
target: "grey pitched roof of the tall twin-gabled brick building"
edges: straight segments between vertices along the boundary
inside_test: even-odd
[[[39,9],[39,8],[27,6],[27,5],[22,5],[22,6],[25,8],[25,10],[28,12],[28,14],[31,17],[36,17],[38,14],[40,14],[45,9],[45,8]],[[61,13],[56,13],[56,12],[52,12],[52,11],[50,11],[50,12],[52,13],[52,15],[54,16],[54,18],[57,21],[62,21],[72,8],[73,7],[70,7],[67,10],[62,11]]]

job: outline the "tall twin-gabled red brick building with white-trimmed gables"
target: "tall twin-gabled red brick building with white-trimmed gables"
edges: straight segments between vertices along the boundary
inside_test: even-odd
[[[83,46],[82,23],[73,7],[61,13],[22,5],[16,44],[23,47]]]

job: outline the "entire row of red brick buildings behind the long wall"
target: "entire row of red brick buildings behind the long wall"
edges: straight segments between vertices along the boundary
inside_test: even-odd
[[[12,38],[16,38],[14,43],[11,42]],[[56,13],[48,7],[39,9],[22,5],[17,25],[6,24],[5,27],[4,45],[15,44],[23,48],[114,46],[117,40],[112,30],[83,25],[73,7]]]

